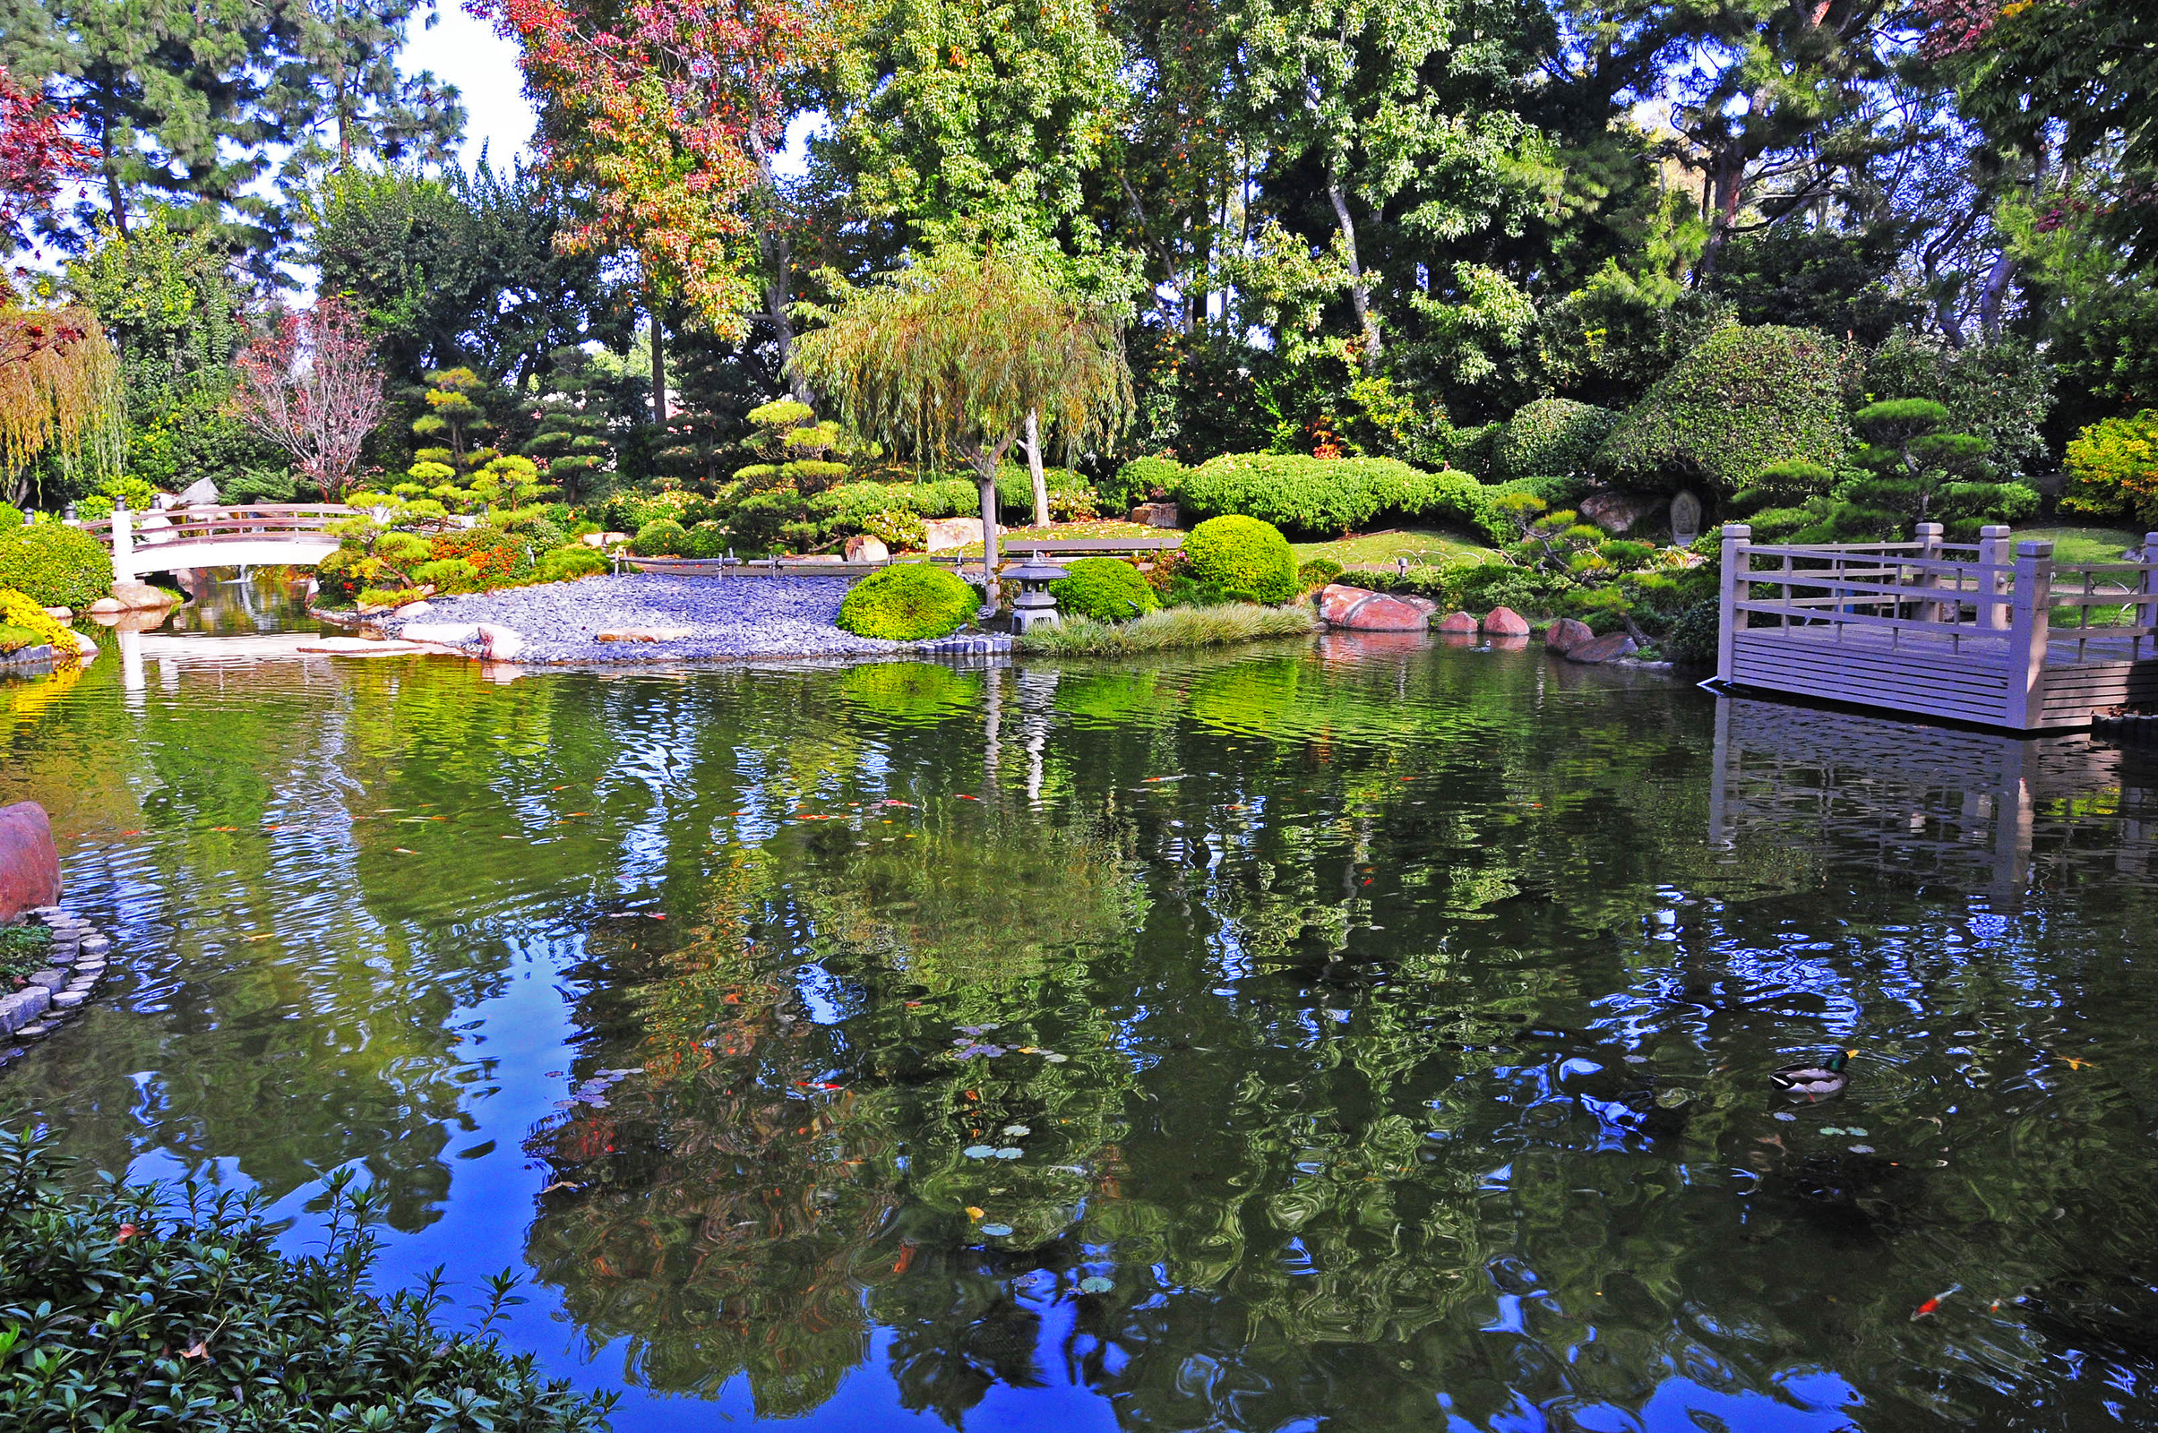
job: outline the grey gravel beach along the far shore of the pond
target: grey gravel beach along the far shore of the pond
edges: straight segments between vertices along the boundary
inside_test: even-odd
[[[470,598],[436,598],[412,622],[490,622],[524,637],[520,663],[682,663],[727,656],[863,656],[909,643],[833,626],[852,583],[835,576],[589,576]],[[395,637],[408,624],[386,622]],[[680,641],[600,641],[622,628],[688,628]],[[477,641],[470,643],[477,647]]]

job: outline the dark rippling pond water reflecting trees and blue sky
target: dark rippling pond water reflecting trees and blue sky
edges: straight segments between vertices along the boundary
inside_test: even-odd
[[[121,971],[0,1118],[293,1247],[358,1170],[617,1429],[2158,1422],[2136,753],[1409,639],[162,645],[0,740]]]

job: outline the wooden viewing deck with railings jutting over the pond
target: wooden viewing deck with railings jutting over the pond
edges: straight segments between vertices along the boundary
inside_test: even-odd
[[[1977,544],[1757,544],[1724,527],[1716,675],[2007,732],[2158,701],[2158,561],[2059,563],[2005,527]],[[2158,533],[2143,555],[2158,555]]]

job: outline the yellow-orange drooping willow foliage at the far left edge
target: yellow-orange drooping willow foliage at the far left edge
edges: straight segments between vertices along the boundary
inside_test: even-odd
[[[0,490],[17,507],[37,460],[69,488],[121,470],[121,360],[88,309],[0,309]],[[37,494],[43,499],[43,492]]]

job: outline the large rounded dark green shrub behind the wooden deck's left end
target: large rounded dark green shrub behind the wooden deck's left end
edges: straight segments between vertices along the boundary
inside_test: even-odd
[[[1774,464],[1834,468],[1852,447],[1852,345],[1811,328],[1724,328],[1660,378],[1597,447],[1621,488],[1733,494]]]

